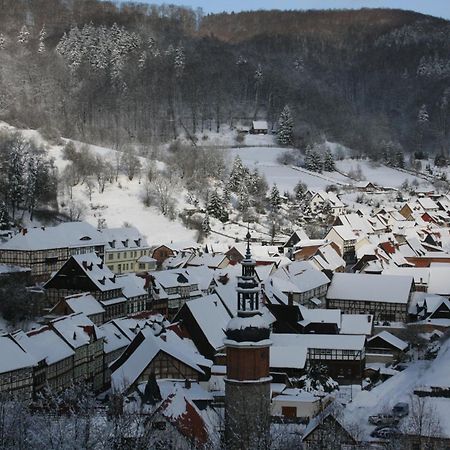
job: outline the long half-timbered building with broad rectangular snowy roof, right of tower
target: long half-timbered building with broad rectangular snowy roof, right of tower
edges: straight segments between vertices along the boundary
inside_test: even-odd
[[[327,308],[346,314],[371,314],[375,322],[406,322],[414,290],[411,276],[336,273]]]

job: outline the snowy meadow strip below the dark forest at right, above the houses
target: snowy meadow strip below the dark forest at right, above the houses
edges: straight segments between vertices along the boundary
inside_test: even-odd
[[[398,188],[405,181],[412,183],[416,180],[421,186],[430,187],[430,184],[422,178],[402,172],[392,167],[386,167],[370,161],[368,159],[343,159],[336,161],[336,167],[340,172],[348,174],[361,167],[362,174],[366,181],[372,181],[379,186]]]

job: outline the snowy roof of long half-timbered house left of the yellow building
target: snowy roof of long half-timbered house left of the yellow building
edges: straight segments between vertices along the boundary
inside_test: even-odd
[[[105,238],[86,222],[65,222],[54,227],[27,228],[3,243],[4,250],[46,250],[105,245]]]

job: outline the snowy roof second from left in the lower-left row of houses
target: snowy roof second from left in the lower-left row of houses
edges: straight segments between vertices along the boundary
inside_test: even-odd
[[[28,333],[19,331],[14,334],[14,339],[36,361],[45,360],[48,365],[62,361],[75,354],[73,349],[48,326],[29,331]]]

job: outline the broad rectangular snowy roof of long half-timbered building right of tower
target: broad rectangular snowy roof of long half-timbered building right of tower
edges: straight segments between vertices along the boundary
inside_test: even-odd
[[[412,285],[411,276],[335,273],[327,298],[407,304]]]

